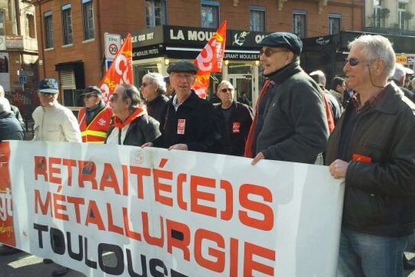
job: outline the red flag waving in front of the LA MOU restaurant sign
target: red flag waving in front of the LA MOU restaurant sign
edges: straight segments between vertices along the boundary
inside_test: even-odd
[[[216,33],[202,49],[201,53],[193,61],[198,71],[192,89],[200,98],[208,95],[209,79],[211,72],[221,72],[223,56],[226,44],[226,21],[223,21]]]

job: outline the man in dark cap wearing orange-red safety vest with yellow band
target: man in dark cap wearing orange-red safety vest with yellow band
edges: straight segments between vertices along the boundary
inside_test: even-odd
[[[113,116],[112,109],[105,106],[102,91],[98,87],[87,87],[82,97],[85,107],[82,107],[78,114],[82,142],[104,143]]]

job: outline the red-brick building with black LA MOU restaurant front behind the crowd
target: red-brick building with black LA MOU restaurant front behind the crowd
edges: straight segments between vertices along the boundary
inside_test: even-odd
[[[363,0],[33,0],[40,75],[60,80],[64,105],[80,105],[79,90],[104,73],[104,33],[133,34],[134,82],[165,74],[178,58],[192,60],[221,21],[228,21],[223,73],[254,100],[260,70],[257,42],[268,33],[300,37],[362,30]],[[180,36],[182,33],[183,37]],[[189,34],[196,37],[189,37]],[[142,39],[142,38],[145,39]],[[148,39],[151,38],[151,39]]]

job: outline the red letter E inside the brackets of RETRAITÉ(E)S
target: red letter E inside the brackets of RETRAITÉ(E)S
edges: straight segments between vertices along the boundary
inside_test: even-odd
[[[216,217],[216,208],[210,206],[204,206],[198,203],[199,199],[214,202],[215,197],[213,193],[205,193],[198,190],[198,186],[205,186],[208,188],[215,187],[215,179],[205,178],[200,176],[194,176],[190,178],[190,197],[192,199],[190,207],[194,213],[201,213],[203,215],[209,215]]]

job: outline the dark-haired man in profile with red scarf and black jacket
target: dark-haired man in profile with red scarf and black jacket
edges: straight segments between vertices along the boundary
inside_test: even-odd
[[[131,84],[118,84],[109,98],[115,114],[105,143],[140,146],[160,136],[158,122],[143,109],[140,91]]]

